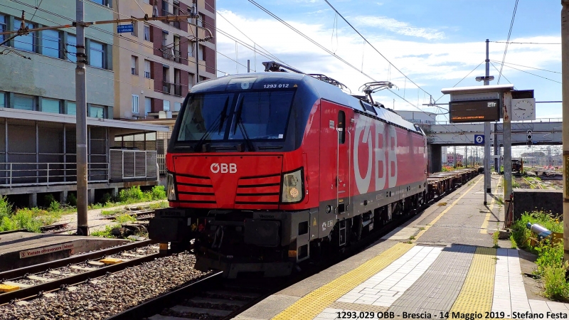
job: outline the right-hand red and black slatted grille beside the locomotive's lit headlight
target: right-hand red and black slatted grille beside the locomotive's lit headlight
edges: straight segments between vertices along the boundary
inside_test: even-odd
[[[280,174],[240,178],[235,194],[235,207],[239,205],[279,205]]]

